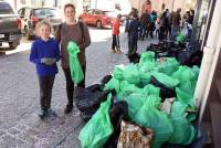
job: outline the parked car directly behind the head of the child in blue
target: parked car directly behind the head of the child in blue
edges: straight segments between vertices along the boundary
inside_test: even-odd
[[[52,25],[52,34],[56,27],[62,23],[62,13],[56,8],[29,8],[24,7],[18,11],[22,20],[22,32],[28,39],[35,36],[35,24],[41,20],[48,20]]]

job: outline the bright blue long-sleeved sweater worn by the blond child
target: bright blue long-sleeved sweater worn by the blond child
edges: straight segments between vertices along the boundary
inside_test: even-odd
[[[43,57],[55,57],[56,61],[60,60],[60,46],[59,42],[54,39],[49,39],[48,41],[43,41],[38,38],[31,46],[30,61],[35,63],[36,65],[36,74],[39,76],[49,76],[55,75],[59,70],[56,63],[49,66],[41,63],[41,59]]]

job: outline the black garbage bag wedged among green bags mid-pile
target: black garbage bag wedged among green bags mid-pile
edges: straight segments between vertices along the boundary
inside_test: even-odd
[[[164,102],[166,98],[176,97],[175,89],[171,89],[171,88],[167,87],[166,85],[161,84],[154,76],[150,76],[149,83],[156,87],[159,87],[159,89],[160,89],[159,96],[161,97],[161,102]]]

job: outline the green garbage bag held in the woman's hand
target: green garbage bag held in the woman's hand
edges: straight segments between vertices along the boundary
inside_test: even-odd
[[[82,71],[82,66],[77,57],[80,49],[75,42],[70,41],[67,45],[67,51],[70,56],[70,68],[71,68],[72,81],[78,84],[84,80],[84,73]]]

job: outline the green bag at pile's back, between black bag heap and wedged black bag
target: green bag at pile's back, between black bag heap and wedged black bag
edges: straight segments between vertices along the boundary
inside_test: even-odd
[[[167,57],[166,61],[158,63],[158,72],[172,75],[179,68],[179,63],[175,57]]]

